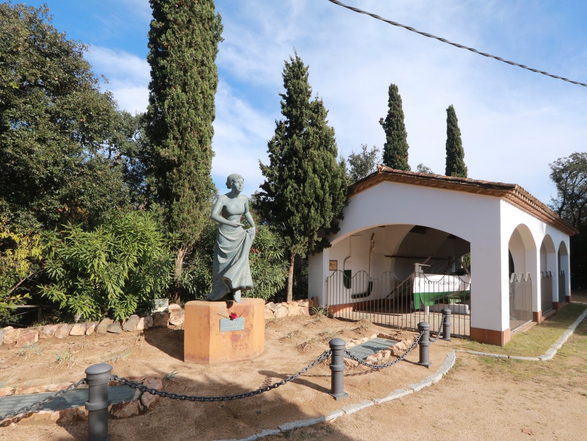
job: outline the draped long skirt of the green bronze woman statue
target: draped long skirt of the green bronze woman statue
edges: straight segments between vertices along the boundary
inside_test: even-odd
[[[255,230],[220,224],[216,233],[214,261],[212,262],[212,292],[208,298],[220,300],[236,289],[252,289],[249,250]]]

